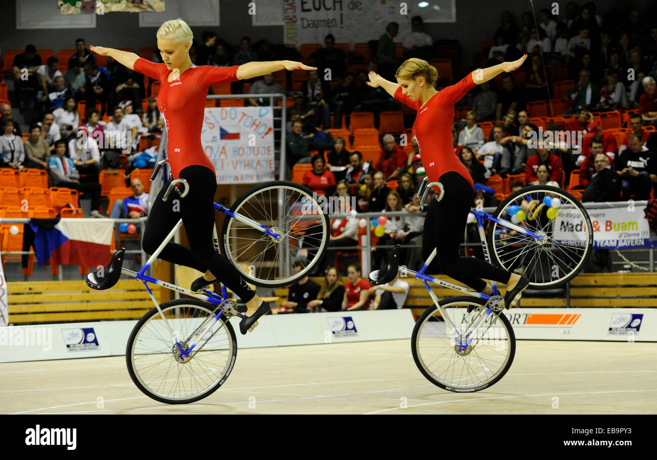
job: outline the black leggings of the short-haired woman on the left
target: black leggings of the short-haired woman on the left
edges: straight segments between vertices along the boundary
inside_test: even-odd
[[[144,231],[144,251],[154,253],[171,228],[182,218],[191,249],[170,242],[158,257],[195,268],[199,272],[210,270],[217,280],[231,289],[243,302],[250,301],[256,293],[244,282],[235,266],[215,251],[212,244],[212,228],[215,225],[213,203],[217,188],[214,173],[207,167],[192,165],[180,172],[180,178],[189,183],[189,194],[180,198],[173,191],[167,201],[162,201],[167,188],[160,190],[148,213]],[[179,200],[179,203],[174,203],[174,200]]]

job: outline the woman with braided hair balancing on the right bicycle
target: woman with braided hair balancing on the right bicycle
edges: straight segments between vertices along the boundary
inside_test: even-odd
[[[406,60],[397,72],[397,82],[388,81],[375,72],[369,73],[368,85],[382,87],[388,94],[417,110],[413,135],[420,148],[420,157],[426,175],[431,182],[441,182],[445,188],[442,201],[434,199],[426,212],[422,234],[422,257],[426,260],[434,248],[438,250],[437,262],[443,273],[465,283],[472,289],[492,295],[487,280],[507,285],[504,302],[511,308],[529,285],[524,276],[512,274],[474,257],[461,257],[459,246],[470,207],[474,199],[474,182],[463,163],[454,154],[452,125],[454,104],[485,81],[502,72],[517,70],[524,60],[503,62],[486,69],[468,73],[464,79],[442,91],[436,91],[438,71],[428,62],[418,58]],[[438,267],[432,266],[432,269]]]

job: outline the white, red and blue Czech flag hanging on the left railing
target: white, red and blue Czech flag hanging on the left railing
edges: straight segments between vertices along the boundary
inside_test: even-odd
[[[114,219],[60,219],[51,227],[32,219],[30,226],[35,234],[34,252],[39,266],[97,267],[107,265],[112,257]]]

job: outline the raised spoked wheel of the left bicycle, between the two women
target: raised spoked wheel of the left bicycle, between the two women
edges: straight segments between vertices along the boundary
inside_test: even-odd
[[[235,217],[226,217],[221,233],[224,254],[250,283],[290,285],[304,278],[326,251],[327,215],[302,185],[286,180],[265,182],[240,196],[231,211]],[[240,217],[282,238],[276,240]],[[294,272],[295,263],[301,265],[299,272]]]

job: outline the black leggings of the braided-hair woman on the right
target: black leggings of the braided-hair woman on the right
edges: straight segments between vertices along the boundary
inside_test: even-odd
[[[422,258],[426,261],[436,247],[438,254],[434,262],[438,266],[432,262],[427,272],[442,270],[447,276],[479,292],[486,287],[486,282],[480,276],[507,284],[511,272],[481,259],[459,255],[468,213],[474,201],[474,190],[470,182],[455,171],[443,174],[439,180],[445,188],[445,195],[440,203],[436,199],[429,203],[422,234]]]

